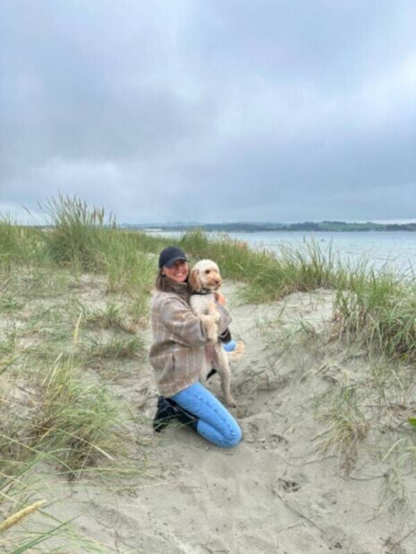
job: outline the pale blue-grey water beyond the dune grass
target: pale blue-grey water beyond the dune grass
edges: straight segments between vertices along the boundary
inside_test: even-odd
[[[183,233],[157,231],[157,234],[179,238]],[[208,234],[212,238],[221,236],[221,233]],[[355,265],[366,258],[374,269],[388,267],[406,276],[413,276],[413,271],[416,274],[416,233],[412,231],[265,231],[227,235],[247,242],[253,249],[266,248],[277,252],[282,246],[302,247],[305,241],[314,240],[323,252],[331,247],[332,253],[347,264]]]

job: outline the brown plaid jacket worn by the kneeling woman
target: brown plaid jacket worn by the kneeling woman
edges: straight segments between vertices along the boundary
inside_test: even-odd
[[[228,310],[217,303],[219,332],[232,321]],[[159,393],[170,397],[198,381],[207,368],[205,328],[187,301],[175,292],[156,291],[150,303],[153,343],[149,359]]]

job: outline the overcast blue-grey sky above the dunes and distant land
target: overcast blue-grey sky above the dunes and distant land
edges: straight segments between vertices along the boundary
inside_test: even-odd
[[[415,28],[415,0],[0,0],[0,213],[415,220]]]

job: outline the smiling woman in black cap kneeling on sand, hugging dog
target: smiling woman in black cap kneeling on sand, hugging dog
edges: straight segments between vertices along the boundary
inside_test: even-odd
[[[160,253],[157,290],[150,305],[153,343],[149,358],[160,393],[153,427],[160,431],[176,419],[211,443],[232,447],[241,440],[239,425],[199,382],[201,369],[208,363],[207,336],[189,307],[188,276],[187,256],[180,248],[168,247]],[[223,303],[225,298],[218,294],[218,332],[227,336],[231,316]]]

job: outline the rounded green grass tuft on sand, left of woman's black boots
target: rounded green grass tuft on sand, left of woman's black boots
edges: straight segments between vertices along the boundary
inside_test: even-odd
[[[122,451],[117,402],[102,384],[87,384],[71,357],[58,359],[40,382],[33,444],[69,470],[114,461]]]

